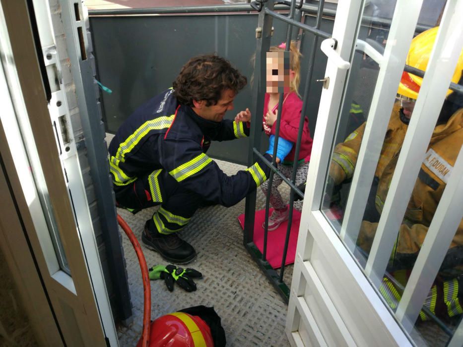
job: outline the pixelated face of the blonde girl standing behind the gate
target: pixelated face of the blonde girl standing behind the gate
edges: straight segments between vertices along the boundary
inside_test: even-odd
[[[267,52],[265,75],[267,93],[288,93],[295,75],[289,69],[289,52]]]

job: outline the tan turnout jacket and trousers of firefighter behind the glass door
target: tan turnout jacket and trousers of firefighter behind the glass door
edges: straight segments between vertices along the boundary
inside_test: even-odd
[[[375,209],[381,214],[389,186],[397,165],[407,125],[400,120],[400,106],[397,103],[389,121],[381,156],[376,168],[378,181],[375,196]],[[330,176],[335,184],[352,177],[357,156],[365,131],[365,123],[350,134],[347,139],[334,148],[330,164]],[[463,145],[463,109],[455,112],[445,124],[437,125],[429,143],[426,156],[421,165],[405,218],[397,234],[396,244],[391,255],[388,271],[404,273],[403,284],[409,276],[416,256],[434,217],[448,178]],[[378,221],[363,221],[357,244],[369,252],[375,237]],[[438,280],[431,289],[425,305],[440,317],[463,313],[460,300],[463,298],[463,220],[450,244],[450,249],[441,266]],[[399,280],[400,282],[400,280]],[[380,291],[388,302],[400,299],[400,294],[392,283],[383,280]],[[391,304],[394,306],[394,304]],[[421,312],[420,317],[426,319]]]

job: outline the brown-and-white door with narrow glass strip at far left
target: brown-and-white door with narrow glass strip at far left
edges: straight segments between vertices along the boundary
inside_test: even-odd
[[[0,7],[3,97],[11,105],[1,123],[13,158],[6,169],[20,182],[14,189],[18,214],[61,338],[69,346],[117,346],[75,142],[72,131],[63,131],[70,119],[50,10],[47,1],[34,5],[35,11],[32,1]],[[18,18],[29,25],[18,26]],[[45,71],[41,59],[48,61]]]

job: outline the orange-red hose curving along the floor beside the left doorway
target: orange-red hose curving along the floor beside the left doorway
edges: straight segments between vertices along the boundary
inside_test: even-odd
[[[148,347],[149,345],[149,329],[150,329],[150,320],[151,320],[151,286],[149,283],[149,273],[148,267],[146,266],[145,256],[141,250],[140,244],[133,234],[132,229],[129,225],[122,219],[121,216],[117,215],[117,221],[121,226],[122,230],[129,237],[132,242],[133,249],[135,249],[136,256],[138,257],[138,262],[140,263],[141,277],[143,279],[143,297],[144,297],[144,306],[143,306],[143,333],[142,333],[142,347]]]

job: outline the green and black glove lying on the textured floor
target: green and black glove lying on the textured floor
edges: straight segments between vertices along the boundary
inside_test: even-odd
[[[202,278],[202,274],[195,269],[183,269],[175,265],[156,265],[149,269],[149,279],[163,279],[169,291],[174,290],[174,282],[186,291],[195,291],[196,284],[192,278]]]

